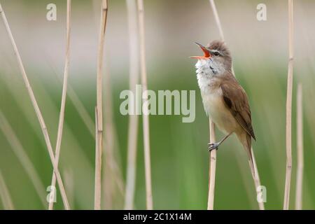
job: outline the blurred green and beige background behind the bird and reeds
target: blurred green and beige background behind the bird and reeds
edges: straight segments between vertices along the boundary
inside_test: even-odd
[[[48,3],[57,5],[57,21],[45,19]],[[72,1],[69,97],[59,169],[71,209],[93,209],[94,106],[97,38],[101,1]],[[282,209],[286,172],[287,1],[264,1],[267,21],[256,20],[260,1],[216,1],[235,74],[248,93],[257,141],[253,143],[260,181],[267,188],[266,209]],[[3,0],[30,83],[55,148],[65,48],[66,1]],[[153,204],[155,209],[207,209],[208,118],[195,76],[200,53],[194,41],[219,38],[209,1],[145,0],[146,62],[151,90],[196,90],[196,119],[150,116]],[[295,1],[293,84],[293,179],[295,204],[296,86],[303,85],[303,209],[315,209],[314,30],[315,1]],[[123,0],[109,0],[104,63],[106,113],[103,209],[123,209],[128,117],[119,112],[119,94],[129,88],[127,10]],[[107,105],[107,108],[105,108]],[[45,188],[52,165],[18,64],[0,22],[0,172],[15,209],[47,209]],[[112,115],[112,116],[111,116]],[[7,121],[7,122],[6,122]],[[135,208],[145,209],[144,155],[139,118]],[[13,132],[11,132],[11,130]],[[217,132],[217,138],[222,137]],[[106,140],[110,139],[110,141]],[[215,209],[258,209],[246,153],[233,136],[217,153]],[[38,189],[21,161],[29,158]],[[36,182],[37,183],[37,182]],[[58,190],[58,188],[57,188]],[[63,209],[58,195],[56,209]],[[0,203],[0,209],[4,209]]]

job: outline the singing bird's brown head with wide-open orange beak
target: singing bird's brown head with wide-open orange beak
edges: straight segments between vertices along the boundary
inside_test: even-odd
[[[214,75],[220,75],[232,69],[232,57],[230,50],[223,41],[212,41],[204,47],[200,43],[196,43],[204,52],[203,56],[193,56],[190,58],[198,59],[200,64],[208,66],[210,72]],[[198,64],[198,63],[197,63]]]

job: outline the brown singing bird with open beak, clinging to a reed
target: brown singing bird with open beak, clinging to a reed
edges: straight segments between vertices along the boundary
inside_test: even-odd
[[[235,133],[243,145],[251,172],[255,176],[251,155],[251,138],[255,139],[251,125],[251,109],[245,90],[232,73],[232,57],[223,41],[213,41],[207,47],[196,43],[204,56],[197,59],[196,73],[204,110],[225,137],[209,143],[209,151],[218,149],[225,139]]]

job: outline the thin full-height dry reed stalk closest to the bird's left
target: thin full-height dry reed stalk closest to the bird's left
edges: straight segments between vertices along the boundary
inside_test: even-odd
[[[139,20],[139,46],[140,46],[140,67],[141,85],[143,90],[144,104],[148,101],[148,86],[146,80],[146,44],[144,38],[144,1],[138,0],[138,20]],[[150,159],[150,128],[148,119],[148,106],[144,106],[143,114],[144,128],[144,167],[146,173],[146,209],[153,209],[152,183],[151,183],[151,159]]]

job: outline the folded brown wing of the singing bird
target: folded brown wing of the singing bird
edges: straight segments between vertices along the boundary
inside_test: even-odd
[[[237,122],[244,130],[255,139],[253,127],[251,125],[251,109],[249,108],[248,99],[245,90],[235,82],[224,82],[221,84],[223,92],[223,102],[231,111]]]

